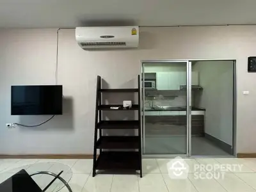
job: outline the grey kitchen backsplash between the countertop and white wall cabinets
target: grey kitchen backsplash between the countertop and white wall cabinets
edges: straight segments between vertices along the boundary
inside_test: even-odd
[[[193,96],[193,95],[192,95]],[[147,91],[145,92],[145,107],[152,106],[186,106],[185,91]],[[193,102],[192,102],[193,106]]]

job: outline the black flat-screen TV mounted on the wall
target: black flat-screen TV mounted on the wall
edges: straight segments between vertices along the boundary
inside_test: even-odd
[[[62,115],[62,85],[12,86],[12,115]]]

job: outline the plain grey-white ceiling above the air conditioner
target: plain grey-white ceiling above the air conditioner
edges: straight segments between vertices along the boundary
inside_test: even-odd
[[[256,24],[255,8],[255,0],[0,0],[0,28]]]

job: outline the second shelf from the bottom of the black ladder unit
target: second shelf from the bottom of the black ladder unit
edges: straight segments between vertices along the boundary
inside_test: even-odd
[[[102,136],[97,141],[97,148],[102,149],[138,149],[139,136]]]

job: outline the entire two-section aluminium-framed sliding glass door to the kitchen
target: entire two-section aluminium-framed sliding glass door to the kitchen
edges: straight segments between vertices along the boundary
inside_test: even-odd
[[[143,155],[234,155],[234,60],[141,66]]]

